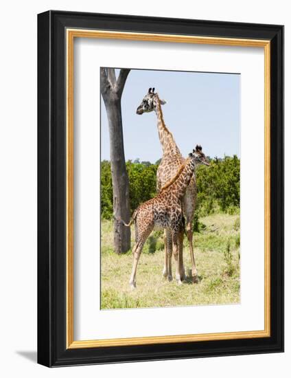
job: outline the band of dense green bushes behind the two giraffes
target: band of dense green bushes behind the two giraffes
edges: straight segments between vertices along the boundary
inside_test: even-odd
[[[240,159],[236,156],[210,159],[210,166],[196,170],[197,205],[194,230],[200,230],[198,217],[214,212],[238,214],[240,209]],[[159,163],[156,162],[156,163]],[[130,182],[130,210],[156,195],[156,170],[158,164],[126,162]],[[101,214],[103,219],[113,216],[113,188],[110,162],[101,163]]]

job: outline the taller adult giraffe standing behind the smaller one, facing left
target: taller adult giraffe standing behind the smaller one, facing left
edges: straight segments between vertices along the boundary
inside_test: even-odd
[[[156,190],[159,192],[167,182],[169,182],[177,173],[181,164],[185,162],[184,157],[174,141],[172,133],[165,126],[163,120],[163,112],[161,109],[161,104],[165,104],[164,100],[159,98],[158,93],[154,93],[154,88],[150,88],[148,93],[143,98],[141,104],[137,108],[137,114],[149,113],[150,111],[155,111],[158,118],[158,130],[159,130],[159,140],[163,148],[163,157],[159,168],[156,173]],[[198,272],[196,269],[196,263],[194,258],[193,249],[193,231],[192,223],[194,219],[194,210],[196,206],[196,176],[193,175],[191,182],[185,192],[182,200],[183,203],[183,214],[186,219],[186,233],[189,241],[189,252],[191,257],[191,274],[193,282],[198,282]],[[165,241],[165,261],[163,267],[163,276],[167,276],[169,280],[172,280],[172,241],[170,232],[165,230],[164,233]],[[181,256],[182,253],[181,253]],[[182,257],[183,259],[183,257]],[[183,277],[185,278],[185,273]]]

